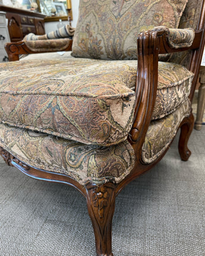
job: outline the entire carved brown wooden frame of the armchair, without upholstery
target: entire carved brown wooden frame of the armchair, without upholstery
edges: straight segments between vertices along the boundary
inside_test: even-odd
[[[141,159],[141,150],[144,143],[144,138],[152,118],[154,101],[157,90],[157,69],[158,55],[179,51],[191,50],[190,70],[194,73],[193,85],[191,88],[190,99],[193,99],[195,84],[200,68],[201,57],[204,48],[204,21],[205,21],[205,1],[201,8],[200,22],[195,32],[193,45],[184,49],[172,49],[166,41],[166,34],[163,29],[151,30],[142,32],[138,35],[138,69],[137,69],[137,84],[135,88],[135,119],[128,140],[135,151],[135,166],[133,171],[118,184],[105,183],[104,185],[96,185],[92,182],[86,186],[80,185],[76,180],[64,174],[52,173],[45,170],[29,166],[29,163],[22,163],[13,157],[5,149],[0,148],[0,154],[10,166],[15,166],[28,176],[36,179],[49,180],[52,182],[61,182],[73,186],[78,189],[87,200],[87,208],[90,218],[93,223],[94,235],[96,239],[96,254],[97,256],[112,256],[112,217],[115,210],[115,197],[118,193],[135,177],[144,173],[157,164],[166,154],[163,152],[157,160],[151,164],[144,164]],[[72,40],[68,46],[70,51]],[[25,42],[7,43],[6,49],[10,60],[18,60],[19,54],[32,53],[31,49],[27,48]],[[53,50],[55,51],[55,49]],[[65,50],[64,50],[65,51]],[[36,53],[36,52],[33,52]],[[179,136],[179,154],[181,159],[187,161],[191,155],[187,147],[188,139],[194,126],[193,114],[182,120],[179,128],[181,134]]]

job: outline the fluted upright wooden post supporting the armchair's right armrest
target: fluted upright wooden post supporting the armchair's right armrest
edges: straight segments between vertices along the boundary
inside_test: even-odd
[[[138,67],[135,88],[135,118],[129,139],[136,154],[140,150],[152,117],[157,91],[159,39],[164,31],[142,32],[137,38]]]

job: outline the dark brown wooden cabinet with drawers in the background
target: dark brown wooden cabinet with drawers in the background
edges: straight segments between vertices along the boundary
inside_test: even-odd
[[[45,34],[45,15],[4,5],[0,5],[0,11],[5,11],[6,13],[11,42],[18,42],[29,33],[36,35]]]

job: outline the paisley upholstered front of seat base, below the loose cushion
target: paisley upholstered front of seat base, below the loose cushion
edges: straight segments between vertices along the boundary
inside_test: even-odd
[[[134,167],[128,141],[115,146],[85,145],[45,133],[0,124],[0,146],[30,166],[72,177],[82,185],[118,183]]]

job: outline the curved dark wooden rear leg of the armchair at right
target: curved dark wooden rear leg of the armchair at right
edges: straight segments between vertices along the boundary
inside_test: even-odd
[[[191,155],[190,149],[188,149],[188,140],[194,127],[194,115],[191,113],[189,117],[184,119],[181,126],[181,133],[179,136],[178,149],[181,160],[187,161]]]

